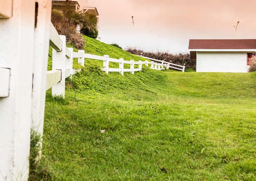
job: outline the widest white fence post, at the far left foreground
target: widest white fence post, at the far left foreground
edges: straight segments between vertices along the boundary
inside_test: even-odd
[[[0,19],[0,67],[11,72],[4,77],[8,97],[0,98],[0,180],[23,181],[29,174],[35,0],[1,2],[0,9],[11,2],[12,17]]]

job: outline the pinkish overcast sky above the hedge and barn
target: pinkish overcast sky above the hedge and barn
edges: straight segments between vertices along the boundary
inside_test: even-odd
[[[88,0],[88,6],[99,12],[101,42],[123,49],[178,53],[189,51],[189,39],[256,39],[256,0]]]

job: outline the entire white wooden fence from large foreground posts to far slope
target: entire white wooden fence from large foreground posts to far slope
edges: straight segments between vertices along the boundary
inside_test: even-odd
[[[0,181],[28,179],[31,129],[43,135],[45,92],[52,87],[53,96],[65,97],[65,78],[75,72],[73,58],[81,65],[85,58],[103,60],[103,71],[122,75],[140,71],[143,64],[159,70],[170,65],[73,52],[53,27],[51,9],[52,0],[0,0]],[[49,45],[52,71],[47,71]]]

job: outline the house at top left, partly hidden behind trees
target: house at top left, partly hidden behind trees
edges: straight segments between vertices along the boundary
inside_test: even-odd
[[[66,0],[52,0],[52,8],[63,11],[63,7],[65,7]],[[88,0],[70,0],[70,4],[72,9],[77,12],[81,11],[82,13],[94,14],[99,16],[96,7],[88,7]]]

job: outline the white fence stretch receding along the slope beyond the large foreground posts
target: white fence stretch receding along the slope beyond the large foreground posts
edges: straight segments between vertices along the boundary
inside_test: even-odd
[[[52,96],[63,96],[65,98],[65,78],[72,76],[76,70],[73,69],[73,58],[78,58],[78,63],[84,66],[84,59],[102,60],[102,71],[106,72],[119,72],[124,75],[124,72],[130,72],[134,74],[136,71],[142,70],[142,65],[151,65],[151,69],[162,70],[164,67],[170,67],[170,63],[156,63],[153,61],[134,61],[124,60],[124,58],[110,58],[108,55],[98,56],[93,54],[85,54],[84,50],[79,52],[73,52],[72,48],[66,47],[65,36],[58,35],[54,26],[50,25],[50,43],[52,47],[52,70],[47,71],[46,90],[52,87]],[[119,63],[119,68],[113,68],[109,66],[110,62]],[[129,64],[130,68],[125,69],[124,64]],[[138,68],[135,68],[138,65]]]

